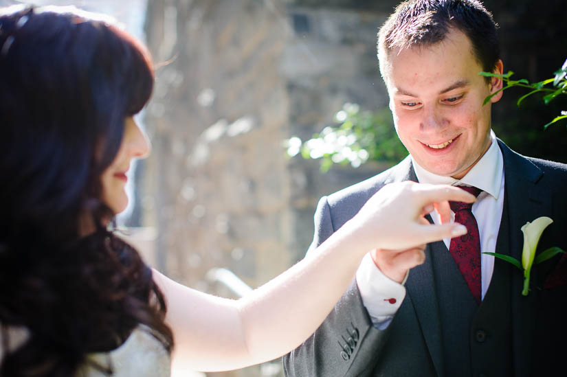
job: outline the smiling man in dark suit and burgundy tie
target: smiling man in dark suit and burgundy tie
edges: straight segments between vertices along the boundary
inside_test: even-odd
[[[474,0],[406,1],[381,27],[378,49],[410,156],[323,197],[311,249],[380,187],[405,180],[477,187],[471,209],[452,207],[471,237],[370,252],[317,332],[285,356],[286,375],[567,375],[567,257],[535,265],[523,296],[522,271],[481,254],[522,260],[520,228],[540,216],[555,223],[538,252],[567,249],[567,165],[522,157],[491,131],[502,80],[478,75],[503,69],[491,14]]]

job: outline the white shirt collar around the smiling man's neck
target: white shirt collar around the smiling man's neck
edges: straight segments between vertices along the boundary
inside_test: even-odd
[[[498,147],[496,135],[490,131],[490,147],[484,156],[469,170],[467,175],[462,179],[454,179],[451,176],[442,176],[433,174],[422,168],[412,157],[417,180],[421,183],[431,183],[435,185],[469,185],[478,187],[480,190],[487,192],[494,198],[498,199],[500,194],[500,185],[502,184],[502,168],[504,160],[502,152]]]

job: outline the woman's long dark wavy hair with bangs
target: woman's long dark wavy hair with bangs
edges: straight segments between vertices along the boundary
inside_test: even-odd
[[[1,336],[30,334],[3,347],[0,376],[74,376],[140,323],[173,347],[151,269],[100,201],[124,119],[152,89],[146,49],[117,27],[66,9],[0,13]]]

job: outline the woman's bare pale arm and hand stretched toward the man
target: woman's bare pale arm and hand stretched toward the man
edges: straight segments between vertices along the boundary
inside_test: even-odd
[[[293,350],[331,312],[366,252],[465,233],[455,224],[423,225],[424,214],[449,200],[472,202],[474,196],[449,186],[387,185],[307,258],[238,300],[201,293],[155,271],[168,304],[175,365],[237,369]]]

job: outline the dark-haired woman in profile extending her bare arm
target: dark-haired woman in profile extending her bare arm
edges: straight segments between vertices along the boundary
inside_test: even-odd
[[[0,376],[168,376],[174,340],[193,369],[268,361],[318,327],[370,249],[414,247],[400,260],[416,264],[419,245],[466,231],[423,214],[473,196],[391,185],[243,299],[181,286],[109,230],[149,152],[133,115],[152,87],[148,53],[112,25],[68,8],[0,14]]]

